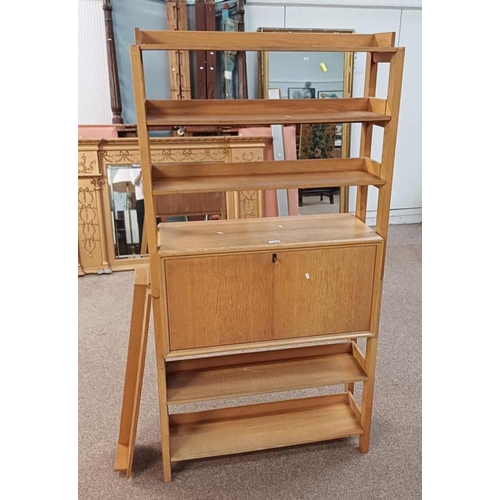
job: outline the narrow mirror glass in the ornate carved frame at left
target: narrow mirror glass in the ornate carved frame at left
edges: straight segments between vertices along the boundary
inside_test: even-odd
[[[146,253],[141,249],[144,227],[141,167],[108,165],[107,169],[115,257],[141,257]]]

